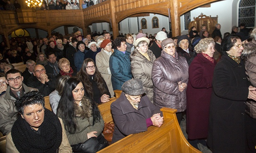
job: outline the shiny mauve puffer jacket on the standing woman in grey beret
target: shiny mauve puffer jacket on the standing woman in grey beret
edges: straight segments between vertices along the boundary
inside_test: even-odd
[[[186,110],[186,90],[178,90],[178,82],[188,84],[188,63],[185,57],[175,53],[175,57],[162,50],[152,68],[154,84],[154,104],[159,107]]]

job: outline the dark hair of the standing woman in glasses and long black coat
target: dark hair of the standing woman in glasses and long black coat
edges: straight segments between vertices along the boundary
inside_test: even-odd
[[[221,42],[223,55],[227,55],[227,51],[229,51],[230,48],[232,48],[234,46],[237,39],[241,39],[241,38],[239,38],[239,36],[237,36],[235,34],[230,34],[229,36],[223,38],[223,40]]]

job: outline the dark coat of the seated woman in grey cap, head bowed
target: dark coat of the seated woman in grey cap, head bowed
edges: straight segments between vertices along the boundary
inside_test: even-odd
[[[147,131],[146,119],[160,113],[160,108],[152,104],[147,96],[142,96],[138,110],[136,110],[124,93],[121,93],[121,96],[111,104],[111,113],[115,122],[112,139],[114,143],[129,134]]]

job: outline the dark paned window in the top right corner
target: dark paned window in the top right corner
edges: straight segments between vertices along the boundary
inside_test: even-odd
[[[238,24],[244,23],[246,27],[254,27],[255,0],[241,0],[239,3]]]

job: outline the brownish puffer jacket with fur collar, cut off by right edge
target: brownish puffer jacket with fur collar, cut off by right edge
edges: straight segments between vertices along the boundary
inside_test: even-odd
[[[248,45],[246,45],[242,55],[245,56],[245,69],[246,75],[248,76],[247,79],[254,87],[256,87],[256,40],[253,39],[251,43],[252,47],[249,48]],[[251,99],[247,100],[245,112],[252,118],[256,119],[256,101]]]

